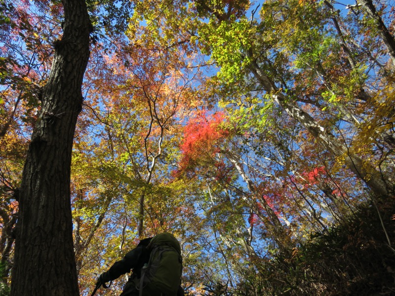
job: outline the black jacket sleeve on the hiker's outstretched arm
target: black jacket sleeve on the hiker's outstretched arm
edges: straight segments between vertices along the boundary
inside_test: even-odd
[[[107,272],[103,273],[102,280],[107,283],[118,279],[122,274],[130,272],[130,269],[137,266],[140,261],[140,257],[145,251],[144,249],[145,246],[137,246],[135,249],[126,253],[122,260],[115,262]]]

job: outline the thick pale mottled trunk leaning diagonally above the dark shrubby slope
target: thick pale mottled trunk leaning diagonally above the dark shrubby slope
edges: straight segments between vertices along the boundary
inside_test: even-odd
[[[262,87],[268,93],[272,93],[272,97],[277,104],[293,119],[301,123],[321,146],[328,149],[334,156],[345,157],[346,166],[368,185],[376,196],[388,196],[390,194],[386,182],[384,182],[381,174],[374,167],[369,164],[363,165],[362,160],[351,153],[345,144],[320,126],[309,113],[293,103],[290,98],[279,92],[273,80],[260,69],[256,62],[251,63],[250,70]]]

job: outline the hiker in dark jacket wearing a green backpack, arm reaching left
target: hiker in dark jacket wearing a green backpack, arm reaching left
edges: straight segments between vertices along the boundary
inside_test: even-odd
[[[137,247],[101,274],[97,287],[108,288],[106,283],[130,272],[123,292],[119,296],[183,296],[180,286],[182,273],[181,248],[170,233],[140,241]]]

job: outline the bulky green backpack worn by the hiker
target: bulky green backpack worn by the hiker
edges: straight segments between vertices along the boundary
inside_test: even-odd
[[[139,296],[176,296],[181,284],[180,243],[170,233],[156,235],[148,245],[150,259],[136,283]]]

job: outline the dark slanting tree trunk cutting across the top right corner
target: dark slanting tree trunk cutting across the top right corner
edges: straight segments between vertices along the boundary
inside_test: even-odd
[[[362,7],[365,9],[366,14],[369,18],[374,21],[376,29],[379,31],[380,37],[387,47],[388,54],[391,57],[392,63],[395,66],[395,40],[394,36],[391,35],[390,31],[384,24],[382,18],[376,11],[376,7],[373,5],[372,0],[360,0]]]

